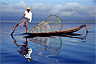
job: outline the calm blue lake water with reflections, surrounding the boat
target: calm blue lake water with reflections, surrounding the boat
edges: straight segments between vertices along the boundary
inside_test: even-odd
[[[17,22],[0,23],[0,64],[95,64],[96,24],[63,23],[63,29],[87,24],[73,35],[25,38],[25,28],[18,26],[10,36]],[[36,23],[28,25],[30,30]],[[27,54],[31,61],[27,61]]]

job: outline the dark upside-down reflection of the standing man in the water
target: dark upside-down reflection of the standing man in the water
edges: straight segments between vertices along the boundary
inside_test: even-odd
[[[12,36],[12,35],[11,35]],[[19,54],[21,54],[22,56],[24,56],[25,58],[27,58],[27,61],[31,61],[31,53],[32,53],[32,49],[31,48],[28,48],[27,45],[28,45],[28,41],[27,41],[27,38],[26,38],[26,42],[25,42],[25,45],[18,45],[16,43],[16,40],[15,38],[12,36],[12,38],[14,39],[14,44],[17,45],[17,47],[19,46],[21,50],[17,51],[19,52]]]

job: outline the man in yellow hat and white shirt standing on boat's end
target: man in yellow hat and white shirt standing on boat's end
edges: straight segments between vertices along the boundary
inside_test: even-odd
[[[32,12],[30,11],[30,9],[31,9],[30,7],[27,7],[26,9],[27,9],[27,11],[24,12],[23,17],[21,18],[20,22],[14,27],[14,30],[11,33],[11,35],[14,33],[14,31],[17,28],[18,25],[26,27],[26,33],[27,33],[27,30],[28,30],[28,20],[29,20],[29,24],[30,24],[30,22],[32,20]]]

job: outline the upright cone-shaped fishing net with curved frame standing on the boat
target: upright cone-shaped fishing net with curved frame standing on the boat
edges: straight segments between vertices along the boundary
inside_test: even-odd
[[[42,33],[62,30],[62,22],[56,15],[50,15],[47,19],[34,26],[29,32]]]

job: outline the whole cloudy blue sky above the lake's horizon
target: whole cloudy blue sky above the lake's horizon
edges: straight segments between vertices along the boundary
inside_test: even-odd
[[[28,6],[33,21],[55,14],[62,21],[94,21],[95,0],[1,0],[1,20],[20,20]]]

